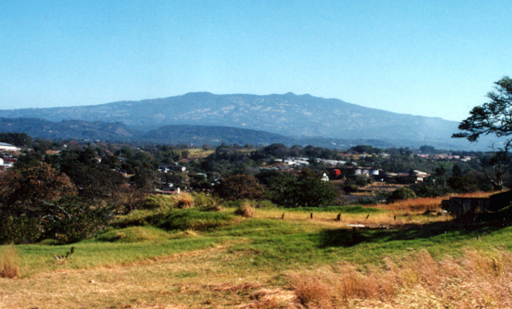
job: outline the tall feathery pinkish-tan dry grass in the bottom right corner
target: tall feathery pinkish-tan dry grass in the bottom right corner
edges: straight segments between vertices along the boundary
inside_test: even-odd
[[[512,307],[512,254],[466,251],[436,261],[422,250],[382,267],[363,270],[339,264],[329,270],[290,275],[291,289],[306,308]]]

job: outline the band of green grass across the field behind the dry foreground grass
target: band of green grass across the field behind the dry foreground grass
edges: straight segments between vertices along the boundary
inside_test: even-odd
[[[110,229],[95,239],[74,244],[75,254],[66,264],[57,263],[52,256],[65,254],[71,245],[17,246],[22,276],[60,268],[87,269],[132,263],[216,246],[227,246],[233,267],[252,272],[262,267],[279,272],[339,261],[377,264],[385,256],[399,257],[423,248],[436,258],[459,255],[465,248],[512,249],[510,227],[480,226],[472,231],[460,231],[456,226],[440,222],[400,230],[354,231],[327,228],[308,221],[234,220],[230,211],[195,209],[173,211],[161,218],[159,228]]]

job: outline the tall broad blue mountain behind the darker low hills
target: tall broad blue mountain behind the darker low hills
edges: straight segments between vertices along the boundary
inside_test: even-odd
[[[167,125],[231,126],[282,136],[338,140],[379,140],[394,146],[483,148],[451,139],[458,123],[362,107],[310,95],[214,95],[188,93],[169,98],[92,106],[0,111],[0,117],[37,117],[51,121],[79,119],[118,122],[136,130]]]

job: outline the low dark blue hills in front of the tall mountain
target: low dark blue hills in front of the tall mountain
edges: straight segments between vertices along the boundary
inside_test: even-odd
[[[226,126],[168,125],[144,134],[120,123],[83,120],[53,122],[39,118],[0,118],[0,132],[27,133],[33,138],[192,144],[196,146],[204,144],[217,146],[221,143],[257,146],[283,143],[289,146],[314,145],[339,149],[360,144],[378,147],[392,146],[386,141],[379,140],[292,138],[265,131]]]

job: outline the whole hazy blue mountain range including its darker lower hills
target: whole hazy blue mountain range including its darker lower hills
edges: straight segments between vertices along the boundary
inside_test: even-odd
[[[428,144],[445,149],[487,149],[486,143],[470,144],[465,140],[451,139],[457,131],[458,122],[455,121],[391,113],[338,99],[293,93],[261,96],[200,92],[90,106],[2,110],[0,117],[39,118],[41,122],[53,122],[53,125],[46,123],[46,129],[39,123],[38,127],[32,127],[31,133],[26,131],[39,137],[50,137],[48,133],[51,130],[54,133],[59,131],[60,138],[66,138],[66,134],[68,138],[78,138],[77,132],[81,133],[81,138],[86,138],[88,130],[92,130],[88,139],[159,143],[195,140],[195,144],[221,141],[255,144],[312,142],[333,148],[348,147],[353,143],[385,147]],[[0,121],[3,131],[9,130],[5,121],[9,122],[9,119]],[[11,121],[12,129],[15,128],[14,122]],[[16,123],[22,122],[23,119],[18,119]],[[24,130],[30,129],[29,124],[30,121],[24,124]],[[70,129],[57,128],[62,125]],[[244,137],[246,141],[241,140]]]

